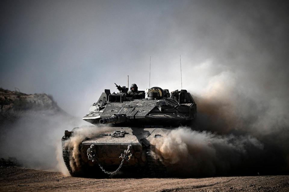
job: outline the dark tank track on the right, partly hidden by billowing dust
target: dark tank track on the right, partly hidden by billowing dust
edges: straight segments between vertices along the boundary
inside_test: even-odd
[[[146,149],[147,156],[147,176],[148,177],[167,177],[166,167],[160,162],[160,160],[154,159],[151,154],[151,149]]]

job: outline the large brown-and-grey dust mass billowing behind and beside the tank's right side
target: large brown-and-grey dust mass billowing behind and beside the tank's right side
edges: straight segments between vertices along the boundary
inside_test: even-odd
[[[197,118],[152,140],[154,157],[180,176],[288,173],[288,99],[251,85],[226,70],[190,91]]]

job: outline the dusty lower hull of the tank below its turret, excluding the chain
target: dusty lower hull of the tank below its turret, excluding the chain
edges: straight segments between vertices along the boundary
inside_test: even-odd
[[[92,126],[93,127],[93,126]],[[166,176],[166,170],[160,161],[152,157],[150,142],[156,137],[163,137],[172,129],[169,127],[96,127],[98,134],[86,137],[78,147],[79,164],[71,162],[72,150],[67,143],[77,135],[77,128],[70,137],[63,137],[63,157],[67,169],[72,176],[104,176],[107,172],[115,171],[121,164],[121,154],[130,146],[129,161],[123,161],[118,173],[133,175],[136,173],[146,176]],[[103,130],[103,131],[100,131]],[[114,134],[115,131],[117,134]],[[94,146],[97,160],[92,162],[88,158],[87,150]],[[76,152],[74,152],[76,153]],[[101,169],[102,167],[102,169]]]

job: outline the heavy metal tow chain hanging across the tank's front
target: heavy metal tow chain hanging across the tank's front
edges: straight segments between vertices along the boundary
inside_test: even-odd
[[[120,158],[122,158],[121,162],[120,162],[120,166],[117,168],[117,170],[113,171],[113,172],[108,172],[106,170],[104,170],[104,168],[101,166],[101,164],[99,163],[98,161],[98,157],[97,157],[97,153],[96,153],[96,147],[94,144],[91,144],[90,145],[90,148],[87,149],[87,158],[92,161],[92,162],[97,162],[99,167],[101,168],[101,170],[108,174],[108,175],[114,175],[115,173],[117,173],[121,166],[123,165],[123,161],[126,160],[127,162],[129,162],[132,154],[130,153],[130,148],[131,148],[132,145],[128,145],[127,146],[127,149],[124,150],[124,152],[120,155]]]

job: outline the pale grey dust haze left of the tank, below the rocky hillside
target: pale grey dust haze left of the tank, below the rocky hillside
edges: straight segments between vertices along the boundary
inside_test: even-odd
[[[0,155],[16,158],[25,168],[61,171],[69,175],[62,158],[64,130],[85,125],[82,119],[54,111],[15,112],[13,122],[0,124]]]

